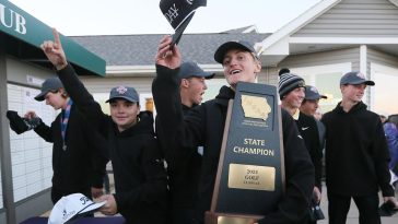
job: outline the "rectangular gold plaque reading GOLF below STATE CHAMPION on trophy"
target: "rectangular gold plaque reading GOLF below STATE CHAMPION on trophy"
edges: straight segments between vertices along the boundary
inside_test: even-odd
[[[229,188],[274,191],[276,168],[230,164]]]

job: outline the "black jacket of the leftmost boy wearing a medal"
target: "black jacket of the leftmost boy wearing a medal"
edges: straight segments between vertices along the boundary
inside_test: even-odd
[[[63,110],[48,127],[42,122],[34,131],[52,144],[51,200],[56,203],[62,196],[81,192],[91,198],[91,187],[102,187],[105,173],[106,149],[97,144],[103,141],[91,126],[86,126],[83,114],[73,104],[66,133],[67,150],[62,149],[60,119]]]

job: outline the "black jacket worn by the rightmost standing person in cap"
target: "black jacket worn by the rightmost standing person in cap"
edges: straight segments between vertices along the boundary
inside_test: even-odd
[[[326,127],[326,185],[342,196],[368,196],[389,185],[389,153],[379,117],[360,102],[346,113],[340,103],[321,119]]]

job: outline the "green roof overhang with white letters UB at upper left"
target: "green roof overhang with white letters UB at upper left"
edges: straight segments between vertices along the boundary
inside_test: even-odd
[[[79,74],[105,75],[106,62],[101,57],[60,35],[63,50]],[[20,60],[52,68],[40,45],[54,39],[52,30],[9,1],[0,3],[0,43],[5,52]]]

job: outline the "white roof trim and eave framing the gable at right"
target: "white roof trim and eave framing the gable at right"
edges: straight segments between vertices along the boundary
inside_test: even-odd
[[[398,0],[389,0],[397,5]],[[390,55],[398,56],[398,38],[396,37],[300,37],[295,32],[314,21],[319,15],[341,2],[341,0],[321,0],[295,20],[288,23],[261,43],[256,44],[261,62],[266,67],[276,67],[289,55],[341,49],[367,45]]]

